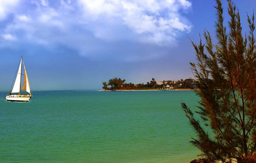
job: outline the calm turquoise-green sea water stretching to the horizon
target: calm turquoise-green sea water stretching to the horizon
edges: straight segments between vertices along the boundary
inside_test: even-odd
[[[186,163],[199,150],[181,109],[194,91],[0,93],[0,162]]]

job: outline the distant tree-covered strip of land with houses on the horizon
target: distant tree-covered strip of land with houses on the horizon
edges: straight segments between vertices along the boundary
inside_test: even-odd
[[[125,83],[125,79],[112,78],[108,82],[102,82],[102,89],[105,91],[118,90],[190,90],[197,87],[197,82],[194,79],[180,79],[180,80],[162,80],[156,81],[152,78],[150,82],[133,84]],[[110,86],[110,87],[109,87]]]

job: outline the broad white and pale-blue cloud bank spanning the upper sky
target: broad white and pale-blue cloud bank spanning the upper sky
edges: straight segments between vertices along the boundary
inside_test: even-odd
[[[191,31],[188,0],[2,0],[0,46],[59,46],[88,57],[157,57]],[[14,10],[15,9],[15,10]],[[150,52],[143,49],[150,49]],[[136,51],[131,49],[137,49]],[[164,52],[163,52],[164,55]]]

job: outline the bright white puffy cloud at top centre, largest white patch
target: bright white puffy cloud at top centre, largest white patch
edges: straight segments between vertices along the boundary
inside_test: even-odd
[[[142,42],[168,44],[178,32],[190,32],[191,25],[182,21],[182,11],[191,7],[187,0],[79,0],[85,16],[92,21],[122,20],[140,36]],[[99,33],[99,32],[96,32]],[[147,37],[145,37],[147,36]]]

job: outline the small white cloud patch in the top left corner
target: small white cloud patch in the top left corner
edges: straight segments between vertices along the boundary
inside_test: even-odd
[[[4,19],[6,15],[13,12],[19,0],[0,0],[0,20]]]

